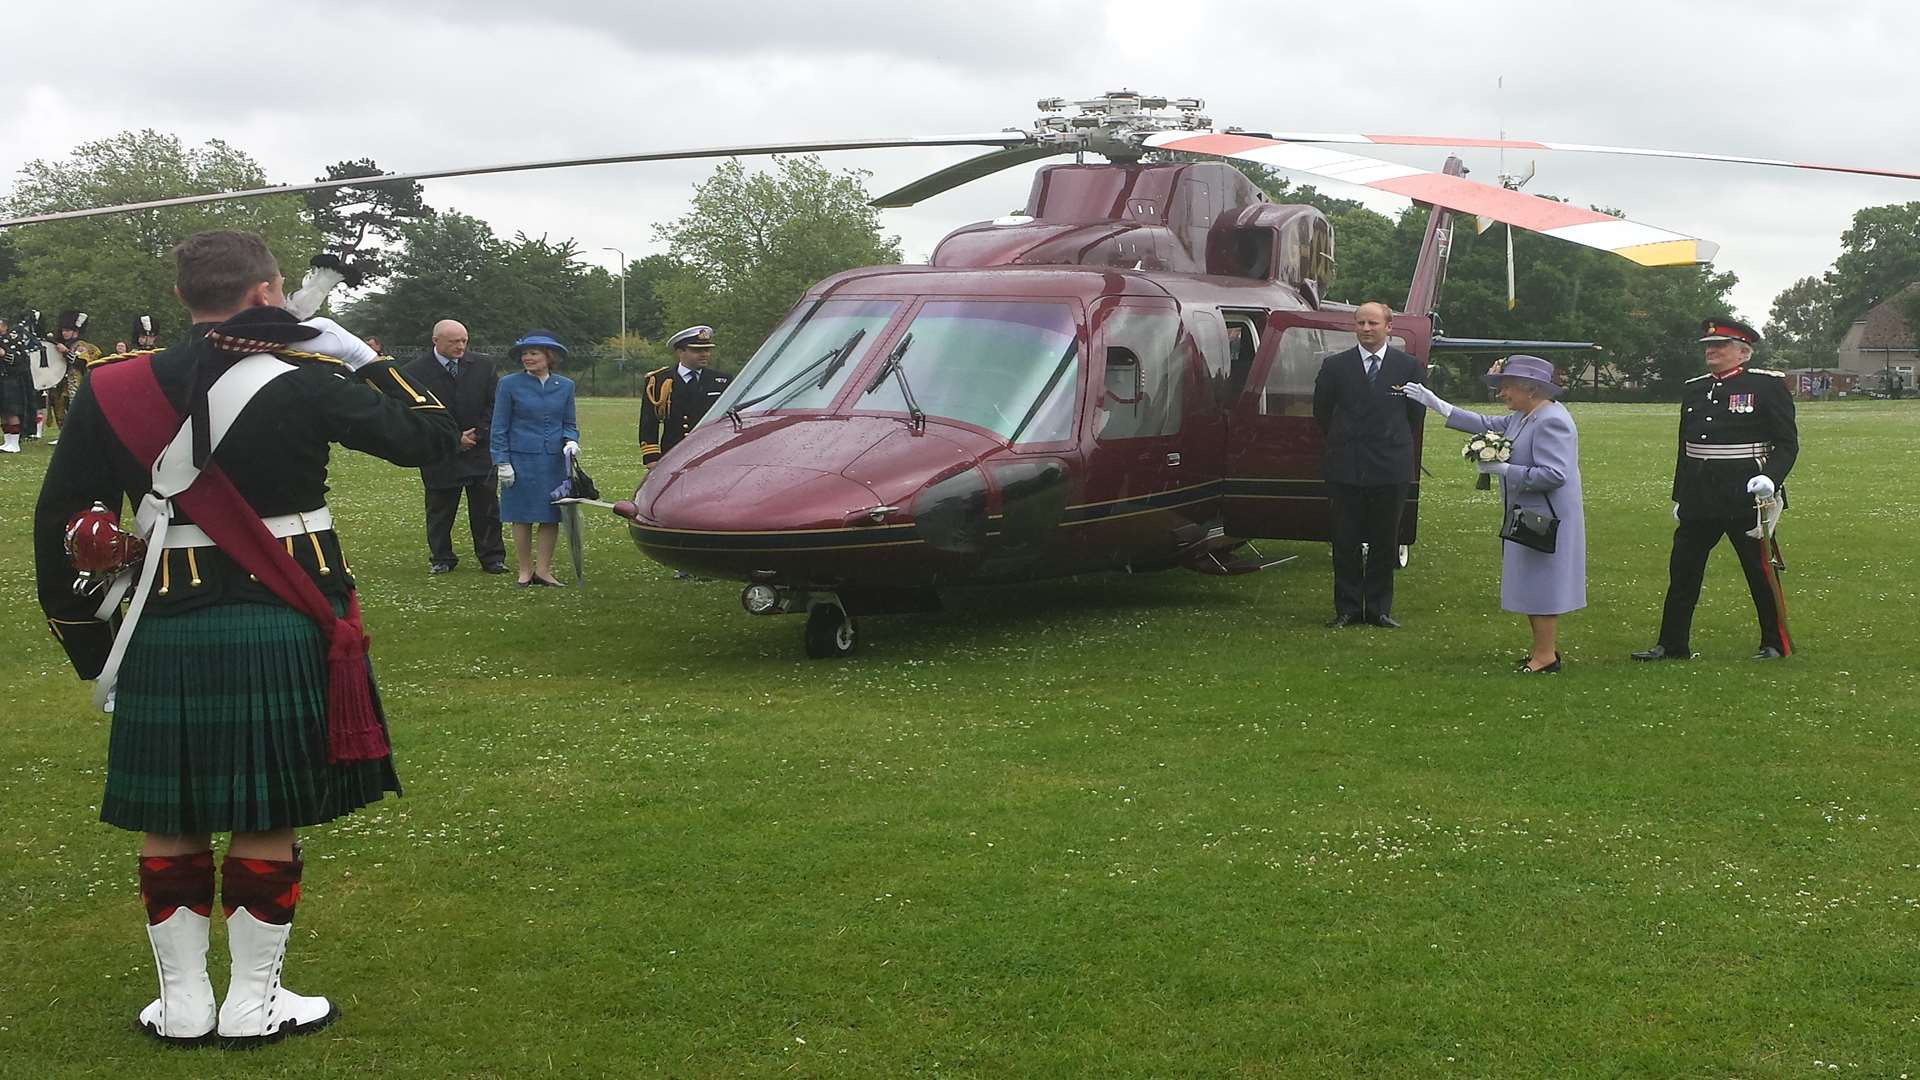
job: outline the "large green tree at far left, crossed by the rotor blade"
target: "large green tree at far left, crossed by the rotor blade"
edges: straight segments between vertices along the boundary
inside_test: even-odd
[[[6,208],[52,213],[261,186],[267,175],[246,152],[217,138],[188,148],[148,129],[84,142],[69,158],[29,161]],[[0,309],[38,307],[52,317],[79,307],[94,317],[88,338],[104,348],[127,334],[134,315],[152,313],[169,340],[186,329],[186,311],[173,298],[175,244],[202,229],[259,233],[298,281],[321,246],[301,209],[300,196],[288,194],[17,225],[8,231],[15,265],[0,277]]]

